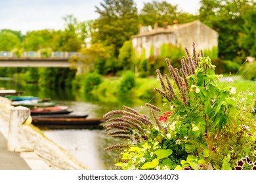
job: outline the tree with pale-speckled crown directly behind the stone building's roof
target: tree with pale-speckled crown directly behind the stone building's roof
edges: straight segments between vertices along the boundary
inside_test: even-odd
[[[171,5],[167,1],[152,1],[144,3],[139,20],[142,25],[154,25],[156,22],[160,27],[163,27],[164,22],[173,24],[173,20],[178,20],[179,23],[191,22],[196,16],[187,12],[179,11],[177,5]]]

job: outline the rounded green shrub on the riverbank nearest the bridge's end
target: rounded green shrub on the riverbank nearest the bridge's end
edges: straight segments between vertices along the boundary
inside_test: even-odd
[[[91,92],[98,84],[102,82],[102,76],[98,73],[89,73],[85,76],[84,91]]]

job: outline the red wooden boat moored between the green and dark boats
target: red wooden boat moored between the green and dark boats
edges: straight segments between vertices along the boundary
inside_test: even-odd
[[[31,116],[38,116],[44,114],[69,114],[72,110],[69,110],[67,106],[54,106],[45,108],[32,108],[30,109]]]

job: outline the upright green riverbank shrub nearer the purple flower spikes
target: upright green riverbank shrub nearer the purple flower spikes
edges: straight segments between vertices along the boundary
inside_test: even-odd
[[[123,73],[120,85],[117,89],[119,97],[127,97],[131,93],[131,89],[135,86],[135,73],[132,71],[125,71]]]

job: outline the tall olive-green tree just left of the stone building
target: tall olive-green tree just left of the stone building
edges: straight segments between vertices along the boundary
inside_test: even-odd
[[[100,17],[95,20],[93,42],[113,46],[117,58],[123,42],[138,32],[137,7],[133,0],[104,0],[100,6],[96,7]]]

